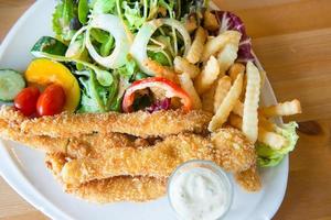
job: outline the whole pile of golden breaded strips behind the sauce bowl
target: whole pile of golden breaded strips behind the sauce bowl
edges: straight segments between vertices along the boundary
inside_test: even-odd
[[[0,138],[46,152],[45,164],[65,191],[94,202],[157,199],[175,167],[190,160],[212,161],[235,173],[246,190],[259,190],[254,144],[241,131],[193,134],[205,132],[211,118],[171,110],[31,119],[1,107]]]

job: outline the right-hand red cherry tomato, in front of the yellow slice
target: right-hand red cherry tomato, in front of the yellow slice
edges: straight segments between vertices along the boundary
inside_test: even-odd
[[[54,116],[63,110],[65,94],[61,86],[51,85],[39,97],[36,111],[39,116]]]

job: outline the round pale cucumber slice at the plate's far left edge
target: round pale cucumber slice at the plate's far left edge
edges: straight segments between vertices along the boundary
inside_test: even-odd
[[[12,69],[0,69],[0,100],[12,101],[25,87],[23,76]]]

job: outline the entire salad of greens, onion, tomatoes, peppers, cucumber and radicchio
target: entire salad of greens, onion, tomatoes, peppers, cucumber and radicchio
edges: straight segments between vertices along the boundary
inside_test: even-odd
[[[32,46],[35,59],[24,78],[11,69],[0,70],[0,99],[14,101],[29,117],[63,110],[153,112],[178,102],[190,110],[192,97],[178,81],[154,76],[158,68],[167,75],[174,68],[175,57],[188,54],[206,11],[207,0],[60,0],[52,19],[54,36],[42,36]],[[209,37],[239,32],[236,62],[255,62],[242,20],[226,11],[210,14],[217,25],[209,30]],[[204,64],[195,65],[199,69]],[[34,85],[45,89],[42,95]],[[152,96],[143,90],[150,86],[166,92],[153,90],[158,96]],[[277,133],[288,140],[279,150],[256,143],[260,166],[275,166],[293,150],[296,127],[278,128]]]

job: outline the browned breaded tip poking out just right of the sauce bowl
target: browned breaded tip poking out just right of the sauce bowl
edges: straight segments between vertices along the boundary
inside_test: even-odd
[[[247,191],[259,191],[261,188],[260,177],[256,166],[235,174],[236,183]]]

